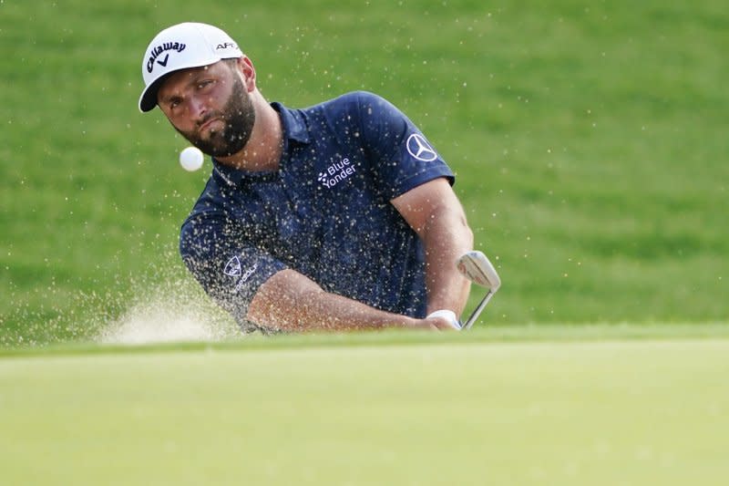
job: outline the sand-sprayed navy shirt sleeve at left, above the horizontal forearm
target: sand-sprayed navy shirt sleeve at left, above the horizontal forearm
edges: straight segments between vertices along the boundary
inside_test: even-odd
[[[259,287],[286,264],[248,243],[241,228],[222,213],[188,219],[180,231],[180,255],[205,292],[243,331],[260,329],[246,319],[248,307]]]

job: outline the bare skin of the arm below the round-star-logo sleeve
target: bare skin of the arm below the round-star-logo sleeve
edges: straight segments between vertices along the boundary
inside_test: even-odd
[[[392,200],[426,248],[427,312],[460,315],[470,283],[457,271],[459,256],[473,248],[473,233],[456,193],[444,178],[419,185]]]

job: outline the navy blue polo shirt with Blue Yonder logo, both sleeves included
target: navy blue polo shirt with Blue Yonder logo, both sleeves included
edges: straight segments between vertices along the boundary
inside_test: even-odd
[[[327,292],[402,315],[426,315],[422,242],[390,202],[454,176],[423,134],[384,98],[354,92],[281,116],[278,171],[213,160],[183,223],[180,253],[245,331],[258,288],[291,268]]]

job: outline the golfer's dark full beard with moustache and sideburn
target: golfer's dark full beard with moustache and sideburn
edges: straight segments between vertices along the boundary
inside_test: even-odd
[[[243,150],[251,139],[256,113],[251,96],[243,87],[240,78],[233,78],[231,98],[228,98],[225,106],[220,111],[208,113],[205,119],[200,120],[198,127],[215,118],[221,119],[225,123],[225,128],[210,131],[209,139],[201,139],[198,131],[175,129],[192,145],[212,157],[229,157]]]

